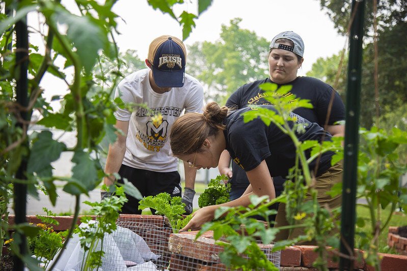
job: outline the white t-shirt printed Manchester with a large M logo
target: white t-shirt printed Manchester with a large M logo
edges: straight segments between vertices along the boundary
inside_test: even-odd
[[[184,109],[185,113],[202,112],[203,87],[185,74],[182,87],[159,94],[151,88],[149,72],[144,69],[126,76],[116,89],[115,98],[149,108],[135,106],[133,111],[118,108],[115,112],[119,121],[130,121],[123,164],[157,172],[176,171],[178,159],[172,155],[169,142],[171,127]]]

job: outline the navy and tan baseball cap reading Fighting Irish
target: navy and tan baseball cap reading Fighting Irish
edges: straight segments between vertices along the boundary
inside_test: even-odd
[[[157,86],[183,86],[185,58],[185,45],[178,38],[165,35],[154,39],[150,44],[147,59],[152,65],[151,69]]]

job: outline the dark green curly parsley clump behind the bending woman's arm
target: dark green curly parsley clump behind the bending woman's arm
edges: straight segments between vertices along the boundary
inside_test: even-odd
[[[202,208],[230,201],[230,184],[222,184],[227,179],[225,175],[218,175],[216,178],[211,179],[208,187],[198,198],[198,206]]]

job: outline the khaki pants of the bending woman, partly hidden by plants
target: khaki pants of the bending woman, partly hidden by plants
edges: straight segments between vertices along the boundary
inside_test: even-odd
[[[327,170],[327,172],[323,173],[322,175],[316,177],[316,187],[317,190],[317,201],[321,207],[328,205],[329,208],[336,208],[341,206],[342,204],[342,195],[338,195],[334,198],[327,195],[326,193],[332,189],[332,187],[342,182],[342,162],[332,166]],[[311,200],[311,195],[307,194],[305,201]],[[275,227],[287,226],[289,225],[286,219],[286,212],[285,212],[285,204],[280,203],[278,208],[278,213],[276,217],[276,224]],[[336,217],[335,220],[340,220],[340,216]],[[300,222],[301,223],[301,222]],[[337,231],[335,231],[337,232]],[[331,234],[335,233],[331,232]],[[291,232],[289,229],[281,230],[276,235],[275,241],[292,239],[294,237],[304,235],[305,229],[304,228],[293,228]],[[302,242],[301,245],[316,245],[315,240],[310,242]]]

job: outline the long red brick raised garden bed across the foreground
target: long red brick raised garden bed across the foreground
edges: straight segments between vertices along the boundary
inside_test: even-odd
[[[67,229],[72,221],[72,217],[69,216],[56,217],[56,219],[60,222],[60,225],[54,227],[55,230]],[[28,216],[27,221],[35,224],[40,222],[35,216]],[[9,217],[9,222],[10,224],[14,223],[14,216]],[[171,257],[171,271],[227,270],[218,260],[221,248],[214,244],[210,232],[202,235],[200,242],[196,242],[194,235],[197,232],[172,234],[168,223],[160,216],[121,215],[119,222],[119,226],[128,227],[142,236],[153,251],[160,250],[155,252],[163,255],[166,261]],[[79,223],[79,221],[77,223]],[[152,228],[154,228],[153,233],[151,232]],[[160,244],[158,244],[156,240],[151,240],[155,239],[157,232],[160,232]],[[394,232],[389,232],[389,236],[390,234],[394,234]],[[407,238],[404,239],[407,240]],[[185,247],[187,247],[188,250],[185,250]],[[405,246],[403,248],[405,249]],[[281,252],[280,270],[316,270],[312,267],[312,263],[317,257],[314,249],[315,247],[313,246],[288,247]],[[198,250],[200,251],[198,252]],[[202,251],[206,252],[202,253]],[[355,252],[356,255],[362,255],[363,253],[360,250],[355,250]],[[336,251],[329,251],[328,255],[328,267],[331,270],[337,270],[339,263],[334,260],[337,258],[335,257],[335,255],[337,255]],[[407,256],[393,254],[380,254],[380,256],[382,257],[382,271],[407,270]],[[362,257],[359,258],[360,260],[355,261],[355,268],[357,270],[374,271],[373,267],[365,264]]]

